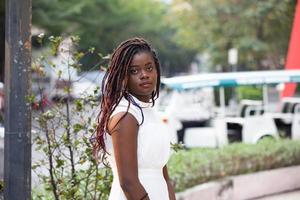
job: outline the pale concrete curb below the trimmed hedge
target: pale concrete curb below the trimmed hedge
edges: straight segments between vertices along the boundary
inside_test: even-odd
[[[300,188],[300,165],[231,176],[176,194],[177,200],[246,200]]]

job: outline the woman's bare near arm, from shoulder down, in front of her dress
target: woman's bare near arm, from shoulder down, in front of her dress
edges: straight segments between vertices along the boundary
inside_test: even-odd
[[[118,113],[109,122],[121,188],[128,200],[141,200],[147,194],[138,178],[138,122],[130,114]],[[121,120],[120,120],[121,119]],[[148,197],[143,200],[149,199]]]

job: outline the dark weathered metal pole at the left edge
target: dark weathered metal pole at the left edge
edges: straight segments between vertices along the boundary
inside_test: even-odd
[[[6,0],[4,199],[31,199],[31,0]]]

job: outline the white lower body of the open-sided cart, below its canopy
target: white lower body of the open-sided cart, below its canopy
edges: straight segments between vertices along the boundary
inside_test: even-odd
[[[237,116],[216,116],[207,127],[188,128],[186,145],[195,147],[198,140],[201,146],[220,147],[233,142],[255,144],[265,137],[278,138],[274,120],[261,101],[242,100],[238,110]]]

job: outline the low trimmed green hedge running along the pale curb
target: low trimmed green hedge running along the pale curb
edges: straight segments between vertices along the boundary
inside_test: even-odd
[[[197,148],[172,155],[168,169],[177,192],[226,176],[300,164],[300,141],[265,139],[220,149]]]

